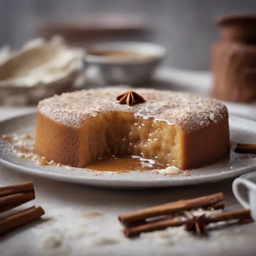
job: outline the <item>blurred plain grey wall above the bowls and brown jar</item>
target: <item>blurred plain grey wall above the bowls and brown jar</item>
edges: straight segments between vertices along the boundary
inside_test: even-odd
[[[36,35],[51,34],[56,22],[88,22],[95,15],[118,14],[123,29],[133,26],[130,39],[167,48],[165,65],[208,70],[210,46],[219,38],[214,20],[232,12],[255,11],[255,0],[1,0],[0,44],[19,48]],[[119,38],[120,31],[114,35]],[[90,33],[84,32],[84,37],[86,41]]]

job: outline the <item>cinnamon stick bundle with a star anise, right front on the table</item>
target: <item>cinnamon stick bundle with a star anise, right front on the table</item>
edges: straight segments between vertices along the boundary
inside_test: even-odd
[[[250,210],[214,212],[218,209],[224,209],[224,207],[224,195],[218,193],[120,214],[118,219],[125,226],[124,235],[126,237],[182,225],[185,226],[186,230],[193,230],[196,234],[201,234],[209,223],[228,220],[238,220],[240,223],[253,221]],[[212,214],[194,216],[192,210],[199,208],[211,209]]]

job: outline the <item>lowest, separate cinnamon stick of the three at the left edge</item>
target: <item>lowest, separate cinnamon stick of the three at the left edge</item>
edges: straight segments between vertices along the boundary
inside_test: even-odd
[[[7,232],[18,228],[36,220],[44,215],[44,210],[41,207],[31,207],[22,212],[12,214],[6,218],[0,219],[0,235],[6,234]]]

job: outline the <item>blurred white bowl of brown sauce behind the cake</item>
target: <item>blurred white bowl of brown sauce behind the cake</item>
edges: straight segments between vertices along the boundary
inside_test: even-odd
[[[150,79],[166,49],[147,42],[103,42],[87,49],[86,65],[97,66],[105,84],[140,84]],[[131,56],[99,56],[92,53],[124,52]]]

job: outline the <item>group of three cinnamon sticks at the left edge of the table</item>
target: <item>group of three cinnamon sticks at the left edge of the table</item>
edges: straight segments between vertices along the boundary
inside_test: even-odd
[[[33,182],[0,187],[0,212],[13,209],[35,198]],[[41,207],[32,206],[26,210],[0,218],[0,236],[23,226],[44,214]]]

